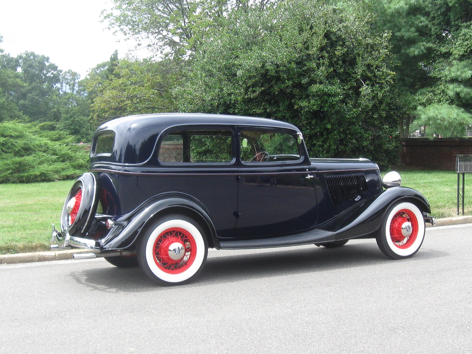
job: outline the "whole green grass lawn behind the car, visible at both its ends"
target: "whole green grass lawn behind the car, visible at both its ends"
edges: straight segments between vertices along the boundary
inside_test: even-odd
[[[457,174],[452,171],[399,170],[402,185],[420,191],[432,215],[456,215]],[[385,173],[382,173],[382,176]],[[472,175],[465,174],[465,214],[472,214]],[[51,223],[59,228],[62,205],[74,181],[0,184],[0,254],[48,251]]]

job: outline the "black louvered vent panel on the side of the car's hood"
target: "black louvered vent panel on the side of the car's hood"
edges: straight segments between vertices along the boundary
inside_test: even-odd
[[[357,197],[368,189],[363,173],[326,176],[325,178],[335,204]]]

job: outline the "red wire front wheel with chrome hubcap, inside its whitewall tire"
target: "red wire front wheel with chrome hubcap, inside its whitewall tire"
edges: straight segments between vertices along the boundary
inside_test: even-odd
[[[410,226],[411,230],[403,230],[402,227]],[[405,232],[406,231],[406,232]],[[405,236],[405,234],[409,234]],[[418,235],[418,219],[411,210],[398,211],[390,221],[390,237],[396,247],[405,249],[411,247]]]

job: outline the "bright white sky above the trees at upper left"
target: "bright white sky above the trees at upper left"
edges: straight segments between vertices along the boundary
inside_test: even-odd
[[[121,59],[135,47],[134,40],[125,42],[100,22],[101,10],[111,6],[110,0],[0,0],[0,48],[13,57],[34,51],[83,78],[116,49]],[[140,59],[150,55],[145,48],[133,53]]]

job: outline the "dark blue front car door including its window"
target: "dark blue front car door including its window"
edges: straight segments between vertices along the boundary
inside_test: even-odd
[[[236,238],[281,236],[312,228],[318,216],[301,134],[240,128]]]

